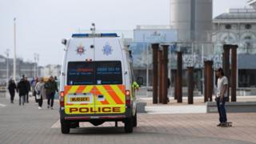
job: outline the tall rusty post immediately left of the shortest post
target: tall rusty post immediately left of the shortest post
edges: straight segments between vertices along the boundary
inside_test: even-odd
[[[182,103],[182,52],[177,52],[177,73],[176,73],[176,86],[177,86],[177,102]]]

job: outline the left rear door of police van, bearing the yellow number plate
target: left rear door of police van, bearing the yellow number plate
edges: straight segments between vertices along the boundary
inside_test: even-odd
[[[94,38],[73,38],[66,55],[66,114],[94,114]]]

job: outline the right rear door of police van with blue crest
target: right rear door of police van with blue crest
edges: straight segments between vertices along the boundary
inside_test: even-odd
[[[95,114],[126,112],[122,48],[118,38],[95,38]]]

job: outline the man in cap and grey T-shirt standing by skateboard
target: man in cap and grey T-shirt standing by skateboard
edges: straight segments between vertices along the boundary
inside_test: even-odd
[[[217,83],[217,95],[216,95],[216,102],[218,107],[218,114],[219,114],[219,124],[217,126],[226,126],[226,108],[225,102],[228,98],[227,90],[228,90],[228,79],[224,75],[222,68],[219,68],[216,71],[216,75],[218,77]]]

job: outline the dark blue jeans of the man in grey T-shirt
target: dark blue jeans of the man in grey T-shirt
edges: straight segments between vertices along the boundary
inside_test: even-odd
[[[220,100],[221,98],[217,98],[217,107],[218,107],[218,114],[219,114],[219,122],[227,122],[226,119],[226,108],[225,108],[225,103],[227,100],[226,98],[223,98],[222,102]]]

